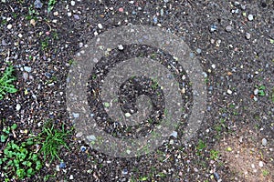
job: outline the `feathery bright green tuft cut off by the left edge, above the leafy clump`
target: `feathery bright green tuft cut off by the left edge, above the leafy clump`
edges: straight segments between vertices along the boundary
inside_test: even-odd
[[[7,66],[3,76],[0,76],[0,100],[2,100],[6,93],[16,93],[17,89],[12,84],[16,80],[16,77],[13,76],[14,67]]]

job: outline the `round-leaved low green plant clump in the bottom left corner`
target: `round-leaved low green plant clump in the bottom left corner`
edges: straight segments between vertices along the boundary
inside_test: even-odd
[[[4,153],[0,153],[0,166],[5,175],[5,181],[32,177],[42,168],[38,155],[32,150],[33,141],[27,139],[24,142],[9,140],[9,135],[16,129],[16,124],[3,128],[1,142],[5,143]],[[18,144],[17,144],[18,143]]]

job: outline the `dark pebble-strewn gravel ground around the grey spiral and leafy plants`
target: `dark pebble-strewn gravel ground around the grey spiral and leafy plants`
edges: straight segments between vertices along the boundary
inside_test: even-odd
[[[67,129],[73,127],[65,96],[69,67],[91,38],[121,25],[158,26],[184,40],[204,70],[206,112],[202,126],[187,144],[178,139],[183,135],[182,124],[161,147],[141,157],[107,156],[92,149],[74,131],[68,138],[71,150],[63,148],[59,154],[63,161],[45,165],[24,181],[43,181],[45,177],[47,181],[103,182],[274,180],[273,1],[48,2],[0,2],[0,72],[7,62],[15,66],[18,89],[0,100],[0,119],[7,125],[18,125],[16,139],[39,133],[47,119],[65,124]],[[104,68],[94,72],[97,79],[90,74],[90,93],[100,89],[100,76],[108,67],[123,59],[153,56],[163,65],[174,61],[172,56],[145,45],[120,45],[110,55],[98,65]],[[188,76],[182,80],[184,74],[183,70],[177,77],[171,76],[185,82],[182,98],[188,114],[193,95],[189,94]],[[136,112],[137,96],[146,95],[158,115],[129,131],[113,127],[115,122],[104,117],[103,107],[98,106],[102,104],[99,95],[90,95],[90,109],[96,108],[94,114],[102,118],[101,126],[114,136],[147,135],[164,115],[161,86],[141,76],[121,87],[119,102],[125,113]],[[0,181],[4,181],[1,170]]]

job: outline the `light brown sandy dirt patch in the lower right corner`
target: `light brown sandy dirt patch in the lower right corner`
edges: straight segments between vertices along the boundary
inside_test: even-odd
[[[268,140],[266,147],[262,146],[263,137]],[[270,136],[261,136],[247,126],[237,131],[237,135],[224,136],[216,149],[228,167],[238,175],[236,181],[274,181],[273,138]]]

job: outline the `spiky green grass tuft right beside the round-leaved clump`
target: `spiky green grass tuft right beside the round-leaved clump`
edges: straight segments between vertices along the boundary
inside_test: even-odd
[[[43,154],[44,160],[46,160],[46,157],[50,157],[50,162],[55,158],[61,160],[58,153],[61,147],[66,147],[69,150],[65,141],[69,134],[70,130],[66,131],[64,125],[61,129],[55,128],[50,122],[43,126],[42,132],[35,136],[34,140],[37,144],[42,145],[40,152]]]

